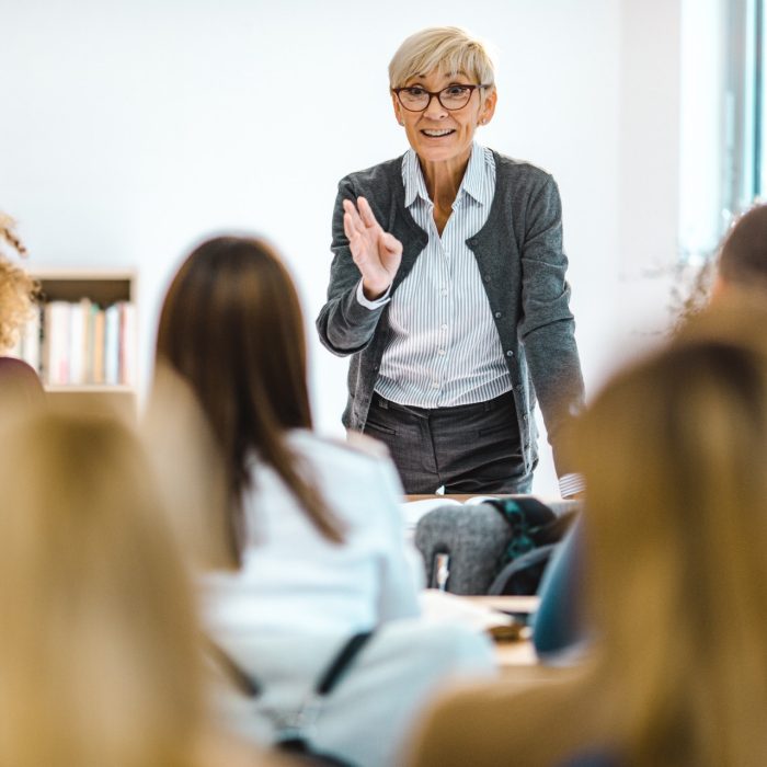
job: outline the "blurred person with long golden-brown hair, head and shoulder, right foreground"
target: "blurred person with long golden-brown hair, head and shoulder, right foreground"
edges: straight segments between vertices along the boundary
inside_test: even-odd
[[[755,335],[767,314],[719,319],[617,376],[579,425],[591,661],[524,694],[501,683],[446,697],[411,765],[767,764],[767,351]]]

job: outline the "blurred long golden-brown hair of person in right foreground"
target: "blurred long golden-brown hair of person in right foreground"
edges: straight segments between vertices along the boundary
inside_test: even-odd
[[[766,327],[703,312],[577,430],[593,618],[637,764],[767,764]]]

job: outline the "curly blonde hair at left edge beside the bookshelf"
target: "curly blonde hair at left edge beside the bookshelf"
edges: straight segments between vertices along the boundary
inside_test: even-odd
[[[19,255],[26,255],[14,228],[15,221],[0,213],[0,245],[10,245]],[[38,293],[37,281],[12,263],[0,248],[0,354],[16,342],[20,328],[34,313]]]

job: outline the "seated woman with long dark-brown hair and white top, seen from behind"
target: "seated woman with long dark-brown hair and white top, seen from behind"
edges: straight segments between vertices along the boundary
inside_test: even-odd
[[[225,463],[233,569],[205,580],[217,636],[353,632],[419,614],[397,472],[312,432],[304,320],[272,248],[196,248],[165,296],[157,358],[192,388]]]

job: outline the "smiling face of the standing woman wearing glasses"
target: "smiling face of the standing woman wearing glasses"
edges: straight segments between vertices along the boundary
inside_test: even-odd
[[[412,77],[404,83],[405,88],[417,85],[433,93],[448,85],[477,84],[462,72],[450,75],[437,70]],[[488,93],[485,89],[477,88],[466,106],[459,110],[447,110],[433,96],[425,110],[411,112],[392,93],[397,119],[404,126],[410,146],[423,162],[468,161],[477,125],[490,121],[495,99],[495,89]]]

